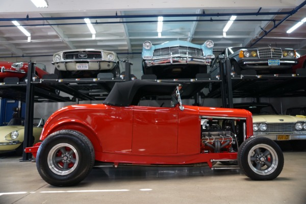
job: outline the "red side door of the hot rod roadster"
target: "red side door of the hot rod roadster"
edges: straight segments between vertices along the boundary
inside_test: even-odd
[[[133,154],[177,153],[177,107],[134,107]]]

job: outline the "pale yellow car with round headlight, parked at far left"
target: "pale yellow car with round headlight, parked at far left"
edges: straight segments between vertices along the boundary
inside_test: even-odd
[[[39,142],[44,119],[34,118],[33,137],[34,144]],[[17,155],[23,153],[24,118],[12,118],[7,126],[0,126],[0,152],[15,150]]]

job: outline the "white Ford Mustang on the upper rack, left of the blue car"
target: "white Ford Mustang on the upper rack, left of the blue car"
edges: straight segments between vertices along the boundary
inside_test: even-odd
[[[55,74],[59,79],[97,78],[101,72],[120,75],[120,63],[116,53],[101,49],[71,49],[53,55]]]

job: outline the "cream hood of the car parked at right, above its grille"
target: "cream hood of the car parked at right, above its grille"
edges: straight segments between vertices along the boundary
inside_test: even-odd
[[[291,115],[253,115],[253,122],[297,122],[306,121],[306,118]]]

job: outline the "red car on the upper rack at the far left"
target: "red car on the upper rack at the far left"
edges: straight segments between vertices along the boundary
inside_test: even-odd
[[[17,77],[22,81],[27,77],[29,63],[27,62],[0,62],[0,80],[3,81],[7,77]],[[35,74],[41,79],[43,75],[49,74],[45,70],[35,66]]]

